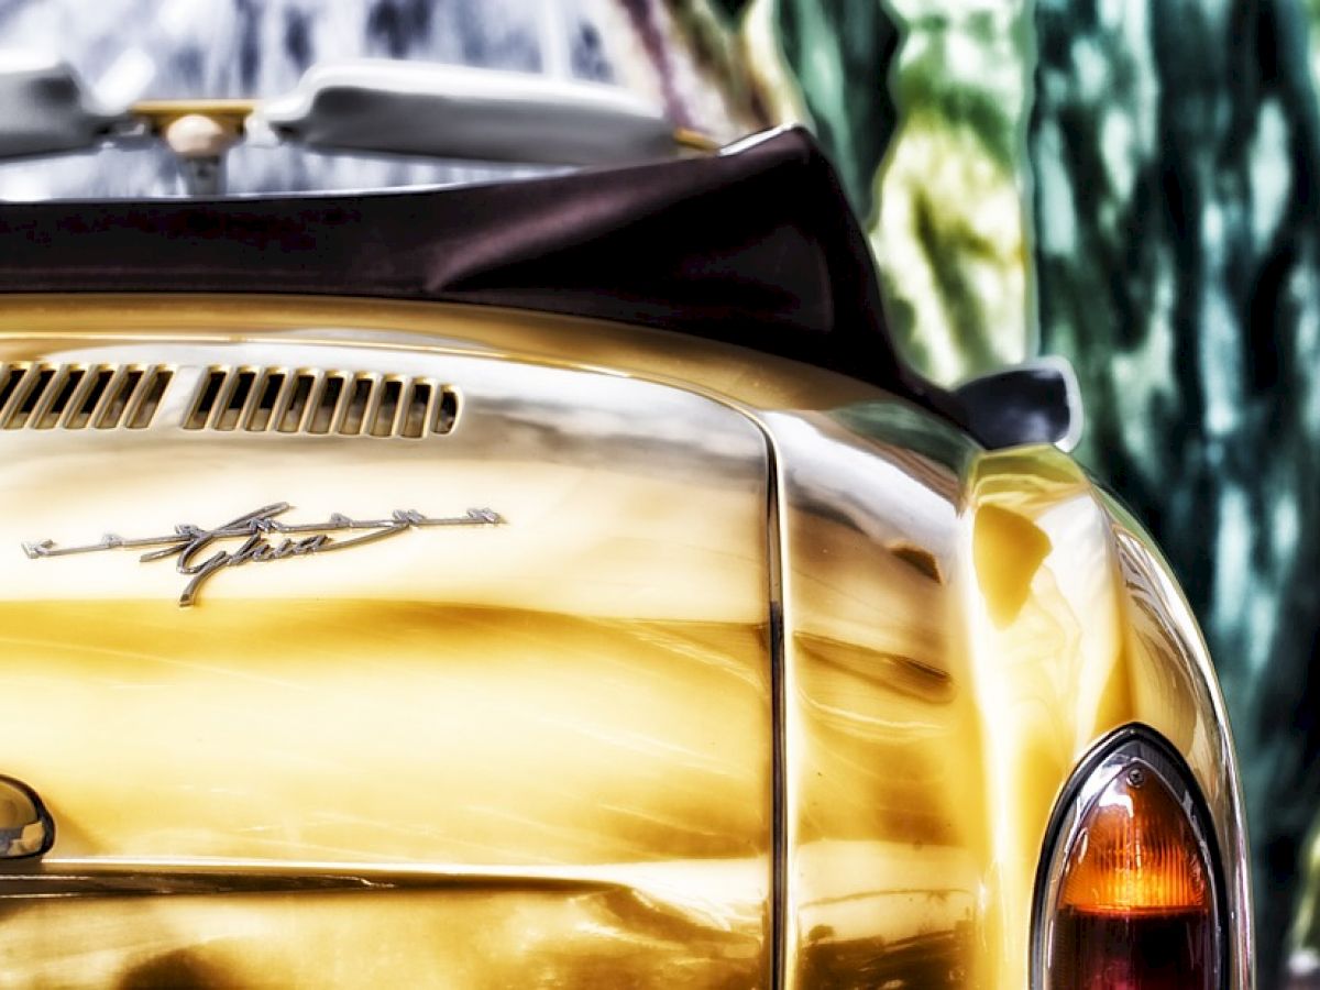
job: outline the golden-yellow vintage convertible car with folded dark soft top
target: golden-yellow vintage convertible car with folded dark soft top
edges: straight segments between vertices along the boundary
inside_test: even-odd
[[[253,111],[131,117],[210,182]],[[0,206],[0,986],[1251,986],[1216,677],[1067,375],[906,368],[804,132],[627,133]]]

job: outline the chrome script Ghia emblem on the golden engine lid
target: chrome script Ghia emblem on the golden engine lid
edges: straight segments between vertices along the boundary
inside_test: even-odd
[[[397,536],[407,529],[426,529],[430,527],[454,525],[502,525],[503,516],[488,508],[470,508],[466,515],[447,519],[432,519],[421,512],[395,511],[389,519],[348,519],[338,512],[325,523],[282,523],[282,516],[292,507],[288,502],[263,506],[255,512],[234,519],[214,529],[185,523],[176,525],[169,536],[144,536],[125,540],[107,533],[100,543],[87,546],[57,546],[53,540],[25,543],[22,552],[33,560],[44,557],[67,557],[74,553],[96,553],[99,550],[152,549],[139,560],[144,564],[174,557],[174,569],[189,578],[183,594],[178,597],[181,606],[197,601],[202,585],[218,570],[240,568],[244,564],[269,564],[293,557],[308,557],[314,553],[347,550],[368,543],[378,543]],[[343,537],[342,533],[360,532],[360,536]],[[220,549],[224,541],[242,541],[236,548]],[[211,553],[214,550],[214,553]]]

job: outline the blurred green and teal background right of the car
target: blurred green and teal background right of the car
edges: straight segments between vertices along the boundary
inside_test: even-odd
[[[1218,664],[1259,985],[1291,961],[1320,986],[1320,0],[668,9],[689,41],[718,21],[731,91],[813,125],[919,367],[1073,362],[1078,454],[1152,528]]]

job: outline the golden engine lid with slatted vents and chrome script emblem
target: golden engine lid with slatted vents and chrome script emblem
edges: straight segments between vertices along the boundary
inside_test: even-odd
[[[0,876],[37,898],[29,928],[57,911],[71,944],[102,944],[120,928],[90,895],[239,876],[260,912],[339,878],[420,884],[437,916],[474,891],[487,913],[532,911],[552,956],[565,927],[609,942],[678,919],[768,965],[768,467],[750,420],[491,355],[69,341],[4,359],[0,772],[45,799],[44,882],[74,895],[48,908]],[[170,944],[227,924],[218,900],[165,903]],[[371,909],[359,931],[379,935],[379,912],[418,908]],[[285,939],[305,960],[314,917],[263,952]],[[128,931],[110,937],[123,966]],[[9,957],[66,981],[77,966],[44,969],[59,956]]]

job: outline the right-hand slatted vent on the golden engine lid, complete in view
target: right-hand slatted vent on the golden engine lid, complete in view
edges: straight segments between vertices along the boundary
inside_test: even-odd
[[[426,378],[211,367],[183,429],[421,440],[450,433],[457,418],[458,393]]]

